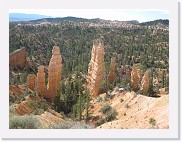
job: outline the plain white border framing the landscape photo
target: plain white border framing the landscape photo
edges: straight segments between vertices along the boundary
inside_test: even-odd
[[[179,139],[177,0],[0,0],[0,122],[3,139]],[[169,129],[9,129],[9,9],[161,9],[169,11]],[[2,28],[3,27],[3,28]]]

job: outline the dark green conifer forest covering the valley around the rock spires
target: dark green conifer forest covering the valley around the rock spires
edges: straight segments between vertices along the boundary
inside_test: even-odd
[[[63,64],[60,88],[52,103],[46,102],[41,97],[39,98],[44,102],[44,105],[39,104],[37,106],[38,112],[35,114],[41,115],[44,111],[54,110],[54,113],[64,116],[61,119],[71,119],[73,122],[70,122],[69,125],[65,122],[64,126],[59,124],[59,128],[63,129],[64,127],[76,127],[75,121],[82,122],[82,120],[85,120],[86,124],[82,124],[84,125],[83,127],[90,128],[87,122],[93,122],[93,124],[100,126],[106,122],[115,120],[118,114],[117,110],[109,104],[103,105],[100,109],[102,118],[92,116],[93,112],[90,110],[95,107],[93,105],[94,101],[99,103],[112,100],[113,96],[111,92],[115,91],[115,88],[124,88],[127,91],[135,91],[137,94],[141,93],[139,89],[140,83],[137,84],[137,89],[133,90],[131,87],[131,78],[128,77],[133,65],[136,65],[137,69],[140,70],[141,76],[143,76],[146,70],[150,70],[149,91],[143,95],[158,97],[160,88],[165,88],[168,92],[168,24],[168,20],[156,20],[133,24],[132,27],[127,28],[122,26],[88,26],[88,22],[79,21],[65,21],[56,24],[10,23],[9,52],[11,53],[21,47],[25,47],[30,63],[29,66],[24,68],[10,67],[9,84],[17,86],[21,91],[23,90],[20,96],[10,95],[10,104],[23,101],[25,96],[36,96],[34,91],[26,88],[27,76],[31,73],[36,75],[39,65],[49,65],[52,47],[56,45],[60,47]],[[97,38],[102,39],[105,45],[104,80],[100,85],[100,89],[105,90],[103,93],[106,93],[106,96],[98,96],[95,100],[90,97],[86,85],[93,40]],[[113,83],[109,83],[107,78],[111,57],[116,57],[116,80]],[[162,73],[159,74],[159,71]],[[48,76],[47,71],[45,71],[45,75],[46,77]],[[155,79],[158,83],[155,83]],[[21,87],[21,85],[25,86]],[[121,100],[120,98],[119,103],[123,104],[123,101],[125,100]],[[35,104],[29,104],[29,106],[32,105],[35,106]],[[125,109],[130,108],[126,104],[123,104],[123,106],[125,106]],[[32,113],[32,111],[30,112]],[[125,115],[127,115],[127,112],[124,113]],[[17,119],[20,119],[20,116],[17,117]],[[31,121],[35,121],[34,119],[31,118]],[[13,123],[13,121],[11,122]],[[16,128],[17,126],[10,127]],[[32,126],[32,128],[34,127]],[[51,125],[49,127],[57,128],[58,125]]]

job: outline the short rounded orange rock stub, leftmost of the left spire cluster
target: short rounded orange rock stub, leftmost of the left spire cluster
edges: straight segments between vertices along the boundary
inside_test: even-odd
[[[32,91],[35,91],[35,87],[36,87],[36,76],[34,74],[29,74],[27,76],[27,86]]]

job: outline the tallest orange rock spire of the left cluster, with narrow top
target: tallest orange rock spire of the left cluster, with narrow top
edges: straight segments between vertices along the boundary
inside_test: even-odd
[[[59,46],[54,46],[48,67],[48,93],[46,98],[54,100],[60,86],[62,73],[62,57]]]

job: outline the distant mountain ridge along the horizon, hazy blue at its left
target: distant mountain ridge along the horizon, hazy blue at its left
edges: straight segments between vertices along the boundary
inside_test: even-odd
[[[169,26],[169,20],[167,19],[158,19],[154,21],[148,21],[148,22],[142,22],[140,23],[137,20],[130,20],[130,21],[118,21],[118,20],[105,20],[100,18],[94,18],[94,19],[87,19],[87,18],[81,18],[81,17],[73,17],[73,16],[67,16],[67,17],[51,17],[46,15],[38,15],[38,14],[23,14],[23,13],[10,13],[9,14],[9,21],[10,22],[20,22],[20,23],[30,23],[30,24],[40,24],[40,23],[59,23],[64,21],[72,21],[72,22],[93,22],[93,23],[109,23],[109,22],[124,22],[127,24],[132,25],[141,25],[141,26],[150,26],[150,25],[156,25],[158,23],[161,23],[165,26]]]

